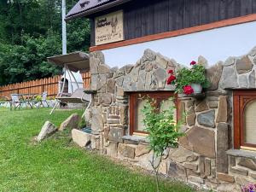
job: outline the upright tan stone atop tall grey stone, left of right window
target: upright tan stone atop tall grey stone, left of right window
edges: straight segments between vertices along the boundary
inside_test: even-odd
[[[216,122],[227,122],[228,120],[228,103],[227,96],[218,97],[218,114]]]

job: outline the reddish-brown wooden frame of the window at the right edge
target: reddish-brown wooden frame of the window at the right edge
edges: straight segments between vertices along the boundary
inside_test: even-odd
[[[256,90],[234,90],[234,148],[256,150],[256,144],[245,143],[244,113],[247,103],[256,100]]]

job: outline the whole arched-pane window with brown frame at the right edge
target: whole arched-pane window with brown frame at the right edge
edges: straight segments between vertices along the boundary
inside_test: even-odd
[[[256,150],[256,90],[234,91],[234,147]]]

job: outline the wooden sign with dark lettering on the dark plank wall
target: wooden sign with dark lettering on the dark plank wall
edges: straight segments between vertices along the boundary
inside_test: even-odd
[[[124,40],[123,11],[113,12],[95,18],[95,43],[109,44]]]

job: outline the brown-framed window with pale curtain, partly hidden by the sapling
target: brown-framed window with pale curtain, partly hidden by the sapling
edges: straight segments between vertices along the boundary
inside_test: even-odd
[[[131,135],[143,135],[147,134],[145,126],[143,124],[142,109],[146,100],[143,100],[143,96],[150,96],[156,101],[157,108],[166,110],[170,108],[174,103],[168,100],[173,95],[171,91],[157,91],[157,92],[136,92],[130,95],[130,134]],[[175,100],[176,102],[176,100]]]

